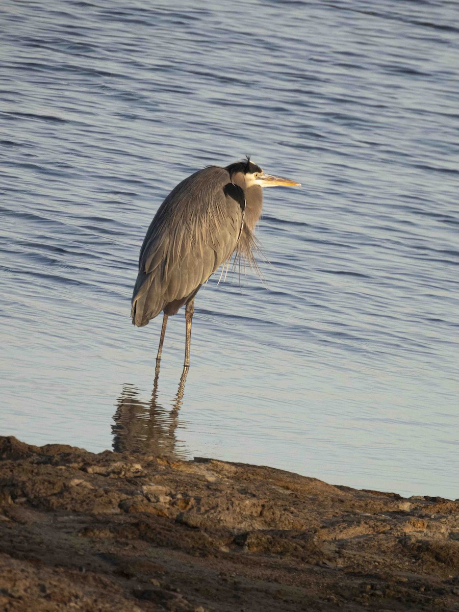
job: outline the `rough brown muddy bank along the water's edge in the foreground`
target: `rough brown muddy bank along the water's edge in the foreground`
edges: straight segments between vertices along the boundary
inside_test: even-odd
[[[0,610],[459,610],[459,502],[0,438]]]

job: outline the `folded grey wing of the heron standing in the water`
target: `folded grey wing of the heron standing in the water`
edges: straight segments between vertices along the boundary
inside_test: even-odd
[[[224,168],[204,168],[174,188],[141,248],[133,323],[146,325],[170,302],[192,296],[231,257],[244,207],[244,192]]]

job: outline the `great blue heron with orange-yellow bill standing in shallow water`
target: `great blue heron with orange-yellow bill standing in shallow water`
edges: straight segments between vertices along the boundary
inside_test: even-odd
[[[233,253],[255,261],[256,222],[263,206],[263,187],[300,185],[265,174],[250,161],[226,168],[207,166],[188,176],[166,197],[140,249],[139,273],[132,296],[132,323],[144,326],[164,313],[157,366],[169,315],[186,304],[185,363],[190,365],[190,340],[195,295]]]

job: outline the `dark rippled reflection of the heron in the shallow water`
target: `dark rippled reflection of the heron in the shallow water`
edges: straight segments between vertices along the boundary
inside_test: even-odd
[[[177,440],[179,409],[182,405],[187,369],[183,371],[179,388],[170,411],[157,401],[158,375],[156,372],[150,401],[140,400],[140,390],[125,383],[113,416],[113,450],[115,452],[148,452],[154,455],[173,455],[186,458],[187,453]]]

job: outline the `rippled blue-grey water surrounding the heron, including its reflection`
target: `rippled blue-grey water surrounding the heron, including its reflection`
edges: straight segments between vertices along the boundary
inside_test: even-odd
[[[171,6],[174,8],[171,9]],[[457,2],[0,6],[0,433],[459,497]],[[157,207],[245,154],[264,284],[136,329]]]

